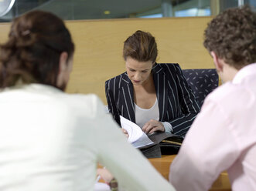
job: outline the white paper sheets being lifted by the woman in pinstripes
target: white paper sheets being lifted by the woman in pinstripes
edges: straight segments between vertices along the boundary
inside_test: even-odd
[[[135,146],[135,148],[155,144],[155,142],[152,142],[145,132],[142,132],[142,129],[134,122],[125,119],[123,116],[120,116],[120,122],[121,127],[128,132],[128,142],[131,142],[131,145]]]

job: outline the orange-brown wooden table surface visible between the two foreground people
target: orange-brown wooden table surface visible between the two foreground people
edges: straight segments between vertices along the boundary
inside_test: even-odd
[[[176,155],[162,156],[161,158],[148,159],[152,166],[155,167],[166,179],[169,179],[169,166]],[[230,191],[230,181],[227,173],[221,173],[217,180],[213,183],[210,191]]]

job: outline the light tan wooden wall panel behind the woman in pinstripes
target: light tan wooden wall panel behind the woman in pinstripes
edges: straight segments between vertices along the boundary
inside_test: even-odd
[[[67,92],[96,93],[106,103],[104,82],[125,71],[123,42],[136,30],[151,32],[158,43],[157,62],[178,62],[183,69],[213,68],[203,47],[203,31],[210,17],[131,18],[67,21],[76,51]],[[9,23],[0,23],[0,43]]]

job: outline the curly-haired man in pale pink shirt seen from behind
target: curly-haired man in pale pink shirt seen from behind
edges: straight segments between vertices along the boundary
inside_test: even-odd
[[[232,190],[256,190],[256,13],[230,8],[204,35],[225,83],[204,101],[169,180],[177,190],[208,190],[227,170]]]

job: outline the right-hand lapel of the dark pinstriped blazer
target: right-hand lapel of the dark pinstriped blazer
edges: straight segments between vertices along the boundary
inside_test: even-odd
[[[153,69],[153,79],[155,83],[155,93],[159,102],[159,121],[167,119],[167,106],[168,106],[168,92],[167,92],[167,82],[166,74],[163,72],[161,65],[154,65]]]

